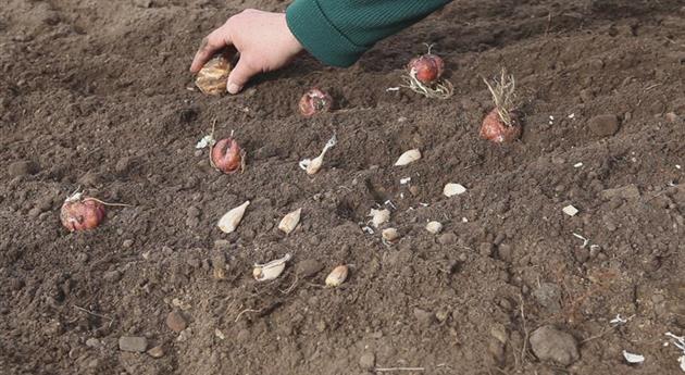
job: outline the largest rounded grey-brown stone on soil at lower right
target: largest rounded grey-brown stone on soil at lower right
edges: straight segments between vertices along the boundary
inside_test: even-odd
[[[540,361],[551,361],[562,366],[568,366],[580,359],[575,338],[550,325],[533,332],[531,348]]]

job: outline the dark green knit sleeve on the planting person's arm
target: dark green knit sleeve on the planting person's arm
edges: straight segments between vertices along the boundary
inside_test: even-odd
[[[373,45],[451,0],[295,0],[288,27],[314,58],[334,66],[353,64]]]

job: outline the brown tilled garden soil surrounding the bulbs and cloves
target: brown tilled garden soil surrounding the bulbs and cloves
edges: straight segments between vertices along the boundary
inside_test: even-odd
[[[244,8],[286,2],[0,5],[0,373],[681,373],[664,334],[685,334],[682,1],[456,1],[350,68],[302,57],[220,98],[192,89],[200,39]],[[447,100],[386,90],[424,42],[446,60]],[[524,133],[497,146],[478,125],[491,109],[482,76],[501,67],[518,78]],[[312,86],[336,105],[303,118]],[[195,149],[213,121],[248,151],[242,174]],[[298,161],[334,133],[308,176]],[[413,148],[419,162],[393,166]],[[468,190],[446,198],[447,183]],[[68,233],[59,210],[79,186],[130,207]],[[220,232],[246,200],[238,230]],[[379,205],[396,243],[362,230]],[[276,226],[299,208],[285,236]],[[252,278],[286,253],[276,280]],[[348,280],[322,287],[338,264]],[[580,358],[536,355],[544,325],[572,335]],[[128,336],[161,358],[121,350]],[[628,365],[623,350],[646,360]]]

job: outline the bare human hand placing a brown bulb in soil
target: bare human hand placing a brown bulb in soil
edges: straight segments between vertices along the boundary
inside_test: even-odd
[[[288,28],[285,13],[248,9],[202,39],[190,72],[198,73],[214,53],[231,46],[240,54],[226,83],[231,93],[238,93],[252,76],[283,67],[302,51]]]

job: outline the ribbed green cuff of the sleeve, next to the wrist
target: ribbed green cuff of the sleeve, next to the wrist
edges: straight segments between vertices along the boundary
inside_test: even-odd
[[[369,49],[354,45],[340,33],[317,0],[295,0],[286,10],[286,21],[302,47],[326,65],[350,66]]]

